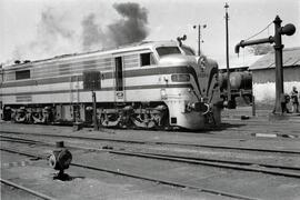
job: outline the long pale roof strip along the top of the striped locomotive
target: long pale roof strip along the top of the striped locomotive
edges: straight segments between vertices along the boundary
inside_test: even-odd
[[[56,57],[49,58],[49,59],[34,60],[34,61],[28,61],[28,62],[22,62],[22,63],[14,63],[14,64],[4,66],[3,69],[6,70],[6,69],[10,69],[10,68],[27,67],[27,66],[32,66],[32,63],[39,63],[39,62],[68,60],[71,58],[80,58],[80,57],[84,58],[84,57],[90,57],[90,56],[117,54],[117,53],[122,53],[122,52],[139,51],[139,50],[147,50],[147,49],[150,50],[151,48],[161,47],[161,46],[178,46],[178,43],[173,40],[142,41],[142,42],[130,43],[127,46],[120,46],[120,47],[113,48],[113,49],[102,49],[102,50],[90,51],[90,52],[61,54],[61,56],[56,56]]]

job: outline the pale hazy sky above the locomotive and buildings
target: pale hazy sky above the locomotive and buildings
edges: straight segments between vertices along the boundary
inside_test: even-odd
[[[176,40],[187,34],[183,43],[197,50],[198,30],[193,26],[207,24],[201,29],[201,50],[217,61],[226,58],[226,2],[231,58],[237,57],[234,46],[240,40],[270,23],[253,39],[273,36],[277,14],[282,26],[293,23],[297,28],[293,36],[282,37],[284,47],[300,47],[299,0],[0,0],[0,63],[106,48],[114,40],[111,26],[124,21],[116,3],[127,2],[138,3],[147,14],[143,40]],[[248,54],[247,48],[241,54]]]

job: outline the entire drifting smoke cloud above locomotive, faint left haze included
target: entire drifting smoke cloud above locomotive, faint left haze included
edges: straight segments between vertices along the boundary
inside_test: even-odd
[[[37,26],[34,41],[19,44],[12,52],[12,60],[36,60],[58,54],[114,48],[139,42],[148,36],[148,10],[138,3],[114,3],[119,20],[106,21],[90,13],[81,24],[73,24],[74,17],[63,9],[46,8]],[[77,14],[77,13],[74,13]],[[80,26],[80,27],[78,27]],[[82,32],[78,32],[82,28]]]

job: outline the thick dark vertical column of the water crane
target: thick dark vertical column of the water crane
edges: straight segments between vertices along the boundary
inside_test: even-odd
[[[281,22],[279,16],[274,19],[274,56],[276,56],[276,107],[273,113],[283,113],[281,102],[284,102],[283,91],[283,70],[282,70],[282,49],[283,44],[281,41]]]

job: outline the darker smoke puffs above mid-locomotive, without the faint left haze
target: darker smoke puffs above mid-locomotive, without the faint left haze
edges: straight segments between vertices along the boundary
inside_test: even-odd
[[[132,2],[114,3],[113,8],[122,19],[108,24],[106,31],[96,23],[93,13],[82,20],[83,50],[118,47],[146,39],[149,33],[146,8]]]

